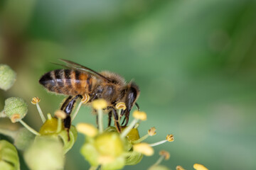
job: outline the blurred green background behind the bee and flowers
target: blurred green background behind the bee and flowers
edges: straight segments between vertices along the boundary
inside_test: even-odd
[[[11,96],[28,103],[38,96],[44,113],[58,109],[64,96],[47,93],[38,79],[60,68],[50,63],[60,58],[134,79],[148,115],[140,134],[155,126],[149,143],[174,134],[153,157],[124,169],[149,168],[161,149],[170,152],[162,164],[171,169],[256,169],[255,1],[0,1],[0,62],[18,76],[0,91],[0,110]],[[40,128],[35,106],[25,121]],[[78,122],[95,124],[90,108]],[[79,135],[65,169],[89,168],[79,153],[83,141]]]

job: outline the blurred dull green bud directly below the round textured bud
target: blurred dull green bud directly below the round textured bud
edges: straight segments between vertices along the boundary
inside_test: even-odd
[[[16,137],[14,137],[14,145],[21,150],[26,149],[26,147],[31,145],[31,142],[35,139],[35,135],[31,133],[26,128],[21,128],[16,132]]]

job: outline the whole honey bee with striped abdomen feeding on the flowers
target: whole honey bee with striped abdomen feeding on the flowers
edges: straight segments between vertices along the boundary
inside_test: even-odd
[[[109,116],[108,125],[110,126],[113,115],[114,125],[117,131],[121,132],[119,116],[115,106],[119,102],[125,103],[127,108],[122,110],[120,116],[124,116],[122,125],[125,121],[124,126],[126,126],[129,122],[129,113],[134,104],[139,110],[139,105],[136,103],[140,93],[139,87],[133,81],[127,84],[123,77],[113,72],[105,71],[98,73],[75,62],[61,61],[65,62],[66,65],[59,65],[66,67],[66,69],[55,69],[47,72],[41,77],[39,83],[50,92],[68,96],[60,107],[60,110],[64,111],[67,115],[63,120],[65,129],[70,129],[70,114],[72,113],[75,101],[87,94],[90,96],[89,105],[92,101],[100,98],[107,101],[105,112]]]

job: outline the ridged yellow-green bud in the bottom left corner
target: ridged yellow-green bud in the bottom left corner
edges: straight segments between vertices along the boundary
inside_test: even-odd
[[[19,170],[18,152],[14,145],[6,140],[0,140],[0,169]]]

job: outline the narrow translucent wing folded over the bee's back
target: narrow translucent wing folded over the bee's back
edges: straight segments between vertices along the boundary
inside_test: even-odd
[[[112,81],[112,79],[109,79],[109,78],[103,76],[102,74],[100,74],[98,72],[95,72],[93,69],[90,69],[88,67],[82,66],[82,65],[80,65],[78,63],[71,62],[69,60],[64,60],[64,59],[60,59],[60,61],[65,62],[66,65],[58,64],[58,65],[61,65],[63,67],[68,67],[68,68],[71,68],[71,69],[78,69],[78,70],[81,70],[81,71],[84,71],[84,72],[89,72],[93,76],[98,77],[100,79],[104,79],[105,81],[109,81],[109,82]]]

